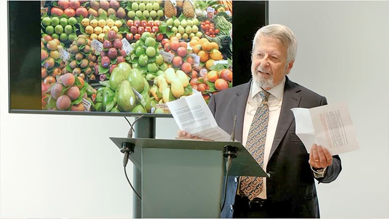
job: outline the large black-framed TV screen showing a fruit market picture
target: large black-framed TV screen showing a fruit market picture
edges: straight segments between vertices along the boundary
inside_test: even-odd
[[[7,3],[18,113],[171,116],[169,101],[248,82],[252,37],[268,23],[267,1]]]

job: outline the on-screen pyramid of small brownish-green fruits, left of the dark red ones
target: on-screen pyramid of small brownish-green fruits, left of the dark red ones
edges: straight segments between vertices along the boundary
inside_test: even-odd
[[[83,79],[95,80],[94,65],[96,61],[96,55],[93,55],[92,48],[90,47],[90,40],[84,35],[79,35],[68,52],[70,57],[67,60],[66,73],[72,73],[75,76],[79,76]]]

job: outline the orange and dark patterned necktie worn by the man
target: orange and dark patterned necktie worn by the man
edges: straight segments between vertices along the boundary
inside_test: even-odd
[[[262,97],[262,104],[255,111],[246,142],[246,149],[261,167],[263,166],[263,152],[265,151],[266,132],[269,123],[269,106],[267,105],[269,94],[264,90],[259,92]],[[241,193],[252,200],[262,192],[263,178],[241,176],[240,190]]]

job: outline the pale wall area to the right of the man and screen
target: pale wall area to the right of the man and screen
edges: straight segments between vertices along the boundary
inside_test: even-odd
[[[269,22],[298,39],[290,78],[346,102],[361,149],[318,185],[323,218],[389,218],[389,1],[270,1]]]

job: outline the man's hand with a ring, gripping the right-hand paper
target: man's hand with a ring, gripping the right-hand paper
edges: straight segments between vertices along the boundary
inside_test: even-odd
[[[322,146],[313,144],[310,153],[308,163],[316,169],[324,168],[332,164],[332,155]]]

